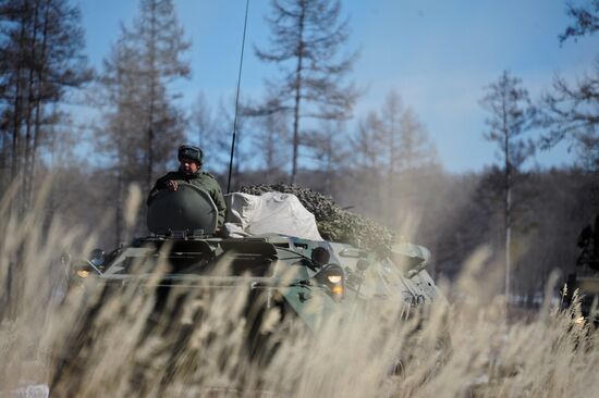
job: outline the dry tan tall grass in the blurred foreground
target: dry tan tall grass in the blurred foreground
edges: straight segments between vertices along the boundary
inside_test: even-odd
[[[8,192],[0,203],[2,396],[38,383],[53,397],[588,397],[599,390],[594,333],[549,304],[526,322],[509,322],[502,298],[489,295],[485,250],[445,289],[449,308],[433,308],[423,324],[401,316],[399,298],[365,302],[330,316],[317,336],[286,325],[273,335],[284,338],[270,358],[249,360],[246,288],[182,291],[159,318],[151,289],[130,285],[108,295],[86,281],[68,290],[60,254],[89,252],[94,237],[58,219],[48,223],[42,194],[23,219],[11,213],[11,200]]]

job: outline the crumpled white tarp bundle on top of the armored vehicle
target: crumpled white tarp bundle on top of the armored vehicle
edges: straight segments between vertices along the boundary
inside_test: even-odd
[[[314,214],[292,194],[266,192],[260,196],[233,192],[228,196],[225,229],[231,237],[283,234],[322,240]]]

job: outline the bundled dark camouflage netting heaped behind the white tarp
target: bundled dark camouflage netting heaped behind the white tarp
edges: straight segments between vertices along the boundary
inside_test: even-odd
[[[244,186],[241,191],[250,195],[270,191],[293,194],[315,215],[318,232],[325,239],[354,245],[381,254],[391,250],[391,231],[371,220],[343,210],[330,197],[309,188],[279,183]]]

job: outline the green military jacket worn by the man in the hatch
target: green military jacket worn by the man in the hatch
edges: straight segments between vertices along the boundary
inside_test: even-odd
[[[158,194],[158,191],[167,189],[167,182],[171,179],[193,184],[208,192],[208,195],[210,195],[210,198],[212,198],[215,204],[217,206],[217,210],[219,212],[218,226],[222,226],[222,224],[224,223],[224,213],[227,211],[227,204],[224,203],[224,198],[222,197],[222,190],[220,189],[220,185],[217,179],[210,173],[206,173],[203,171],[198,171],[197,173],[192,175],[185,175],[181,171],[170,172],[167,175],[158,178],[158,181],[154,185],[154,188],[151,188],[148,195],[148,206],[152,201],[156,194]]]

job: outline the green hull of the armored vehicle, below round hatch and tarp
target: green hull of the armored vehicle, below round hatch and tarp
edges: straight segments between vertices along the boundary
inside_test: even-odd
[[[359,300],[401,298],[398,304],[406,307],[444,300],[426,271],[427,259],[415,257],[414,250],[424,248],[403,249],[394,259],[379,259],[351,245],[274,234],[235,239],[150,236],[107,254],[102,271],[82,262],[75,275],[86,270],[85,277],[98,283],[155,288],[157,308],[167,304],[173,289],[247,288],[269,298],[260,303],[266,308],[284,301],[286,311],[316,332],[328,314]],[[329,257],[323,264],[313,254],[322,250]],[[406,270],[399,263],[402,257],[416,265]]]

